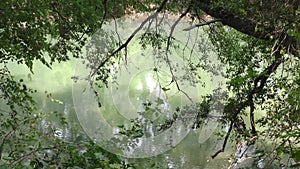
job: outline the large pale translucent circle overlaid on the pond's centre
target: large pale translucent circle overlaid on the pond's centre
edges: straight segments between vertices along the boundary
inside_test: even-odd
[[[203,30],[183,32],[189,26],[183,21],[174,30],[168,56],[166,44],[159,46],[174,22],[166,19],[160,23],[162,41],[150,42],[154,47],[142,48],[145,40],[139,41],[145,31],[150,31],[147,38],[151,41],[153,25],[142,29],[126,48],[126,55],[109,63],[107,88],[93,84],[91,75],[98,71],[94,68],[115,49],[113,44],[126,40],[140,22],[119,20],[118,33],[116,27],[107,25],[86,46],[84,62],[76,66],[75,110],[86,133],[108,151],[145,158],[173,149],[195,125],[199,112],[194,107],[202,102],[202,96],[212,95],[211,117],[222,112],[224,78],[216,74],[222,66]],[[199,143],[204,143],[217,125],[216,119],[206,120]]]

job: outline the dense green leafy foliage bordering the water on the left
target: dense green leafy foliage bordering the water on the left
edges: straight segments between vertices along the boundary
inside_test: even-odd
[[[14,61],[26,64],[32,71],[35,60],[51,68],[53,62],[68,60],[69,54],[78,56],[85,35],[91,35],[104,22],[106,14],[103,12],[122,11],[118,10],[122,6],[114,4],[96,1],[1,3],[0,168],[130,166],[78,132],[78,126],[73,126],[73,131],[78,130],[77,141],[57,137],[56,128],[68,126],[65,117],[61,112],[37,110],[32,97],[36,91],[29,89],[23,79],[14,78],[7,67]],[[75,10],[78,13],[72,12]],[[48,96],[52,98],[51,94]],[[42,130],[42,120],[51,113],[57,116],[59,126],[50,123],[46,131]]]

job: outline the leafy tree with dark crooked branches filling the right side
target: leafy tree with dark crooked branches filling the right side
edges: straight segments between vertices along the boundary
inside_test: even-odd
[[[229,31],[219,30],[225,39],[214,36],[216,45],[221,49],[220,54],[225,56],[224,61],[232,65],[227,75],[231,79],[229,87],[235,93],[225,108],[225,114],[231,122],[224,145],[231,130],[235,128],[244,137],[250,137],[248,144],[253,144],[256,137],[261,135],[276,138],[274,142],[278,141],[279,144],[274,146],[274,150],[278,154],[285,152],[298,159],[298,135],[294,132],[298,130],[299,110],[294,101],[299,92],[299,2],[240,1],[225,4],[222,1],[201,1],[197,4],[206,13],[221,18],[223,25],[243,33],[233,37],[227,34]],[[241,40],[245,40],[247,46],[238,44]],[[287,66],[287,61],[291,67]],[[261,63],[264,66],[260,67],[261,71],[257,71]],[[279,66],[282,66],[281,72],[277,70]],[[294,72],[293,80],[290,79],[291,75],[284,72]],[[287,85],[287,81],[291,84]],[[284,86],[289,86],[289,90]],[[255,122],[255,110],[260,106],[267,111],[267,115],[265,119]],[[246,107],[250,108],[249,131],[244,122],[238,119]],[[270,126],[266,131],[257,132],[256,125]]]

